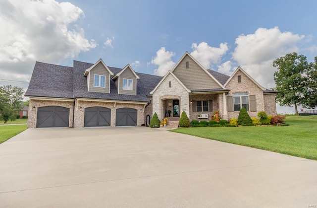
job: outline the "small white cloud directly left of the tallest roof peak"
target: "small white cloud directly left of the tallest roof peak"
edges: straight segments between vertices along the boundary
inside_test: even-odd
[[[157,51],[157,56],[152,58],[151,64],[159,66],[158,69],[154,69],[154,74],[163,76],[168,70],[173,69],[175,63],[172,61],[172,57],[175,53],[166,51],[165,47],[161,47]]]

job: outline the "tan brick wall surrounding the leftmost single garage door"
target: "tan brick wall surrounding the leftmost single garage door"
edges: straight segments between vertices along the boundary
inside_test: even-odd
[[[30,100],[28,128],[36,128],[37,111],[39,107],[44,106],[61,106],[69,108],[69,127],[73,125],[73,101],[51,101],[51,100]],[[35,106],[35,111],[32,108]]]

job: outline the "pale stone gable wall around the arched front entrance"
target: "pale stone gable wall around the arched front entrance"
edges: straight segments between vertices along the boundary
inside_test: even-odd
[[[171,81],[171,87],[169,87],[169,81]],[[180,114],[185,111],[189,117],[189,94],[171,74],[168,74],[153,93],[153,114],[156,112],[159,120],[164,118],[162,101],[173,98],[179,99]]]

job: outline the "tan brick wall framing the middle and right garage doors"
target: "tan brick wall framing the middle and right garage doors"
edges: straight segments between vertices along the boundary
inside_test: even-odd
[[[85,121],[85,108],[89,107],[105,107],[111,109],[110,126],[115,127],[115,115],[118,108],[133,108],[138,111],[138,126],[144,124],[144,106],[145,104],[130,104],[130,103],[109,103],[109,102],[97,102],[97,101],[78,101],[75,103],[75,117],[74,127],[84,127]],[[79,110],[82,107],[82,110]],[[142,112],[140,111],[142,109]]]

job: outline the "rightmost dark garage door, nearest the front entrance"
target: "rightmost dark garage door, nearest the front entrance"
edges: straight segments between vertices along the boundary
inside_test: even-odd
[[[138,111],[133,108],[119,108],[116,110],[115,126],[137,126]]]

